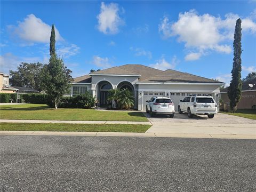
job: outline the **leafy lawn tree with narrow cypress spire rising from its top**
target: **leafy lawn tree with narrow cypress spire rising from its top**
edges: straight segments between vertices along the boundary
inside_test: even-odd
[[[42,85],[54,103],[54,108],[57,109],[62,95],[68,91],[73,78],[71,76],[72,71],[67,69],[63,60],[58,58],[55,53],[54,25],[52,25],[50,38],[50,56],[49,64],[43,68]]]

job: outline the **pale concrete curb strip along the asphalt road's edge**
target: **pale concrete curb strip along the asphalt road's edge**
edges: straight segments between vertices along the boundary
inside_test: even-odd
[[[161,137],[202,139],[256,139],[256,135],[242,134],[187,134],[187,133],[122,133],[122,132],[66,132],[66,131],[0,131],[0,135],[52,135],[94,137]]]

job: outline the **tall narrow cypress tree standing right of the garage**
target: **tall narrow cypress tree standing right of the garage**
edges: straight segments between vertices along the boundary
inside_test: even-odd
[[[241,19],[237,19],[236,28],[234,34],[234,59],[233,59],[233,69],[231,70],[232,79],[230,86],[228,87],[228,97],[230,100],[230,109],[234,113],[236,111],[237,103],[241,99],[242,94],[242,80],[241,80],[241,70],[242,70],[242,28]]]

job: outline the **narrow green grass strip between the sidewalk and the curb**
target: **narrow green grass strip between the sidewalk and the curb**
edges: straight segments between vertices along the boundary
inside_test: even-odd
[[[89,131],[145,133],[151,125],[130,124],[61,124],[61,123],[0,123],[1,131]]]

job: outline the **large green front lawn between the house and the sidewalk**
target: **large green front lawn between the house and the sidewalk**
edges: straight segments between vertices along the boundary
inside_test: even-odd
[[[52,109],[47,105],[24,104],[0,106],[1,119],[145,121],[139,111],[100,111],[94,109]]]

